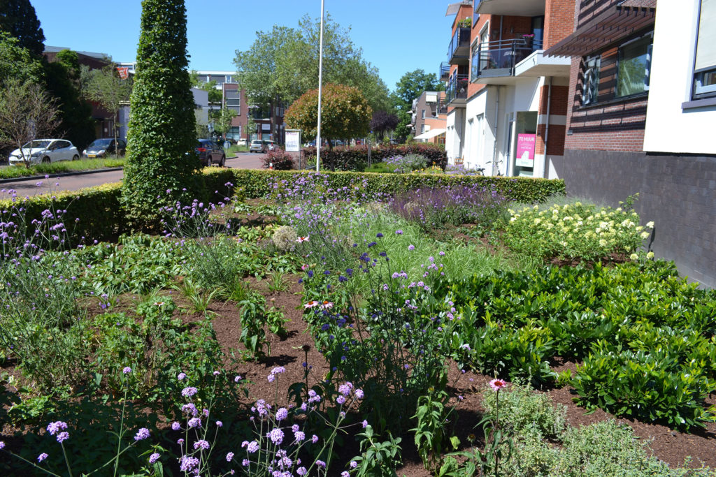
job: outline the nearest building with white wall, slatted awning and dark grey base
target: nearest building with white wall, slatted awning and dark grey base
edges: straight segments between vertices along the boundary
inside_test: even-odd
[[[653,220],[649,247],[716,286],[716,1],[578,0],[562,161],[570,195]],[[705,28],[709,25],[709,28]]]

